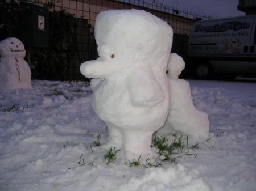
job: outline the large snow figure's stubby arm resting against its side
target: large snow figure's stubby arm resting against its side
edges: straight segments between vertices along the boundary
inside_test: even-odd
[[[131,103],[135,107],[152,107],[164,100],[164,92],[153,74],[136,71],[128,86]]]

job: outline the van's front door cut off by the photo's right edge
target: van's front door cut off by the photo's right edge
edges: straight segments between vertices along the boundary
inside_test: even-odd
[[[249,73],[256,73],[256,18],[254,19],[254,27],[251,31],[250,47],[249,50]]]

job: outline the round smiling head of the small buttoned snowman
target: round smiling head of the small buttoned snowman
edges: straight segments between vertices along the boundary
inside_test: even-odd
[[[11,37],[0,42],[0,56],[24,58],[26,56],[26,50],[19,39]]]

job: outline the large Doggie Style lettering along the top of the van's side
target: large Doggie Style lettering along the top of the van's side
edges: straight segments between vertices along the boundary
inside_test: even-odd
[[[250,26],[250,23],[241,21],[214,24],[213,26],[202,26],[201,24],[196,24],[194,32],[225,32],[228,30],[239,31],[240,29],[250,28]]]

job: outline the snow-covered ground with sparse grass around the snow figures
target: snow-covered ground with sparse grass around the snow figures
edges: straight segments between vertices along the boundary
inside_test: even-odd
[[[104,145],[108,131],[86,82],[34,80],[33,90],[0,92],[0,190],[255,191],[256,83],[189,82],[209,114],[209,138],[189,140],[199,148],[188,150],[183,135],[176,163],[158,167],[159,159],[130,167],[122,151],[106,164],[108,148],[96,142]]]

